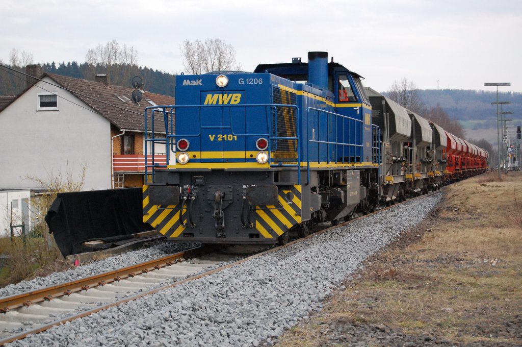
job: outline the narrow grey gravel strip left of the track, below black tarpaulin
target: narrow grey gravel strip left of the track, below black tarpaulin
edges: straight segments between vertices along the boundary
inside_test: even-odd
[[[96,275],[101,272],[121,269],[128,265],[168,256],[172,253],[181,252],[193,247],[195,247],[193,244],[182,245],[165,241],[152,242],[150,246],[140,248],[135,251],[129,251],[121,255],[103,260],[94,261],[92,263],[76,267],[72,270],[55,272],[49,276],[37,277],[30,281],[9,284],[3,288],[0,288],[0,297],[16,295],[23,292],[33,291],[41,287],[48,287],[59,283],[78,280],[84,277]]]

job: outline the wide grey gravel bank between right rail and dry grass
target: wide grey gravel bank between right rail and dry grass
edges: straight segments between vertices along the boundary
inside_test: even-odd
[[[321,310],[334,288],[342,288],[367,257],[420,223],[441,196],[392,207],[14,345],[270,345],[284,329]]]

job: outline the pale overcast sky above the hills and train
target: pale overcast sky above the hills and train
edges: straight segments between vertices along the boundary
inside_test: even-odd
[[[379,91],[401,78],[421,89],[522,91],[519,0],[2,0],[0,22],[5,63],[13,48],[35,63],[81,63],[115,39],[138,51],[138,65],[180,73],[185,39],[217,37],[244,71],[328,51]]]

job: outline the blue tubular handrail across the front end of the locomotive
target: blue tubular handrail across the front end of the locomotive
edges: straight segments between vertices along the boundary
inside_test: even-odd
[[[229,125],[201,125],[201,110],[205,108],[222,108],[222,109],[228,109],[229,114]],[[267,129],[265,132],[263,130],[261,132],[253,132],[253,133],[239,133],[234,131],[234,122],[233,122],[233,116],[232,116],[232,108],[259,108],[265,110],[265,118],[266,118],[266,124]],[[172,152],[175,152],[175,138],[176,137],[199,137],[201,136],[201,130],[203,129],[228,129],[230,130],[231,134],[238,137],[246,137],[246,136],[254,136],[254,137],[266,137],[268,139],[268,148],[266,149],[268,153],[272,153],[272,145],[276,143],[277,141],[291,141],[295,143],[295,146],[293,146],[293,149],[295,152],[292,151],[295,155],[295,164],[294,163],[288,163],[283,164],[281,162],[274,163],[274,158],[272,156],[269,157],[269,165],[271,167],[300,167],[301,163],[301,148],[299,143],[299,137],[300,137],[300,128],[301,128],[301,122],[299,117],[295,117],[295,136],[277,136],[277,135],[271,135],[270,129],[277,128],[277,114],[278,114],[278,108],[281,110],[288,110],[288,109],[294,109],[294,114],[299,114],[299,107],[296,105],[288,105],[288,104],[277,104],[277,103],[267,103],[267,104],[251,104],[251,105],[168,105],[168,106],[152,106],[147,107],[145,109],[145,148],[148,148],[150,146],[151,151],[154,152],[154,147],[156,143],[159,144],[165,144],[165,146],[168,146],[170,149],[174,149],[174,151],[166,151],[167,152],[167,161],[165,165],[160,165],[160,163],[155,162],[155,160],[152,158],[152,161],[150,164],[145,166],[145,180],[148,181],[149,178],[149,169],[151,169],[151,180],[154,182],[155,177],[155,169],[156,168],[167,168],[168,164],[170,162],[170,155]],[[198,110],[198,117],[197,121],[199,122],[199,127],[196,127],[198,130],[197,133],[177,133],[174,134],[174,115],[176,109],[197,109]],[[148,115],[150,112],[150,115]],[[155,114],[161,113],[162,115],[162,121],[165,129],[165,137],[164,138],[157,138],[155,133],[158,131],[155,131]],[[245,112],[246,114],[246,112]],[[272,117],[272,115],[274,117]],[[149,121],[150,119],[150,121]],[[194,119],[196,121],[196,119]],[[149,123],[150,123],[150,130],[149,130]],[[150,134],[149,134],[150,133]],[[149,163],[147,161],[147,155],[145,155],[145,162]],[[298,184],[301,184],[301,170],[298,169]]]

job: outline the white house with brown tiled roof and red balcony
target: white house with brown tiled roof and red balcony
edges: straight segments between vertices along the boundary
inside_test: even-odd
[[[145,108],[174,98],[144,92],[138,104],[134,89],[108,85],[105,75],[95,82],[29,72],[37,67],[28,73],[40,79],[0,110],[0,189],[43,188],[31,177],[79,181],[84,167],[84,190],[141,186]]]

